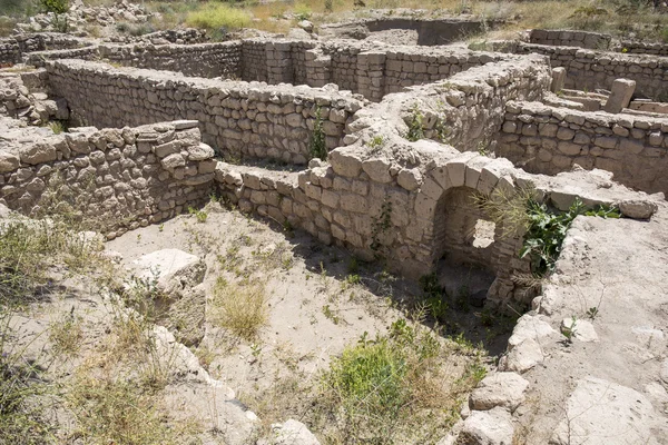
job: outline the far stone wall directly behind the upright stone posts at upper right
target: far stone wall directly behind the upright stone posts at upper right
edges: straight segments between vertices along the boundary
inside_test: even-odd
[[[552,67],[566,68],[566,88],[609,90],[616,79],[625,78],[636,81],[637,96],[668,100],[668,58],[522,42],[508,48],[519,53],[549,56]]]

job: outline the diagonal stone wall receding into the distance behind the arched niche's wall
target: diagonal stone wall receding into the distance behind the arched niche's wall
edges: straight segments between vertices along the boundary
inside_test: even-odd
[[[460,151],[483,151],[503,125],[505,103],[540,100],[550,82],[550,66],[541,56],[471,68],[443,82],[410,87],[357,111],[346,141],[370,144],[377,137],[389,139],[387,134],[403,137],[410,126],[421,125],[426,139]]]

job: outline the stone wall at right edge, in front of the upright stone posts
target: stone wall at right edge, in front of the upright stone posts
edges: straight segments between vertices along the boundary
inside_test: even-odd
[[[668,119],[510,102],[495,152],[531,172],[554,175],[577,164],[668,194]]]

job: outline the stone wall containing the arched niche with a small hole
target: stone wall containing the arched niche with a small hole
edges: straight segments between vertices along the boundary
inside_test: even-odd
[[[498,227],[491,246],[473,246],[471,228],[480,212],[459,200],[462,194],[470,198],[514,187],[512,179],[500,179],[512,165],[443,149],[452,157],[414,167],[341,149],[331,154],[330,164],[302,172],[219,162],[216,180],[222,194],[245,212],[288,221],[367,260],[386,258],[392,269],[415,278],[430,273],[443,255],[487,267],[498,277],[494,296],[512,298],[511,276],[530,271],[529,260],[517,255],[521,236],[500,237]]]

